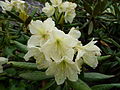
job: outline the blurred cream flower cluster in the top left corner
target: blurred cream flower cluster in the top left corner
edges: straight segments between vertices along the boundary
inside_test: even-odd
[[[7,11],[11,11],[13,8],[15,8],[17,11],[24,11],[25,8],[25,1],[22,0],[5,0],[4,1],[0,1],[0,6],[3,9],[3,12]]]

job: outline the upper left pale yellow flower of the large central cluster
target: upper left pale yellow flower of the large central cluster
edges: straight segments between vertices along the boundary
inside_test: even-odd
[[[29,29],[33,35],[28,41],[28,47],[42,46],[49,39],[52,30],[57,30],[51,18],[48,18],[44,22],[40,20],[32,21]]]

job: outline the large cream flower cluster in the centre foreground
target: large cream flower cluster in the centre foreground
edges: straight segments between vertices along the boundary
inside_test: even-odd
[[[53,5],[60,4],[54,2]],[[77,81],[83,63],[92,68],[97,66],[100,49],[95,45],[96,41],[91,40],[82,45],[78,41],[81,33],[76,28],[71,28],[69,33],[65,34],[55,27],[51,18],[48,18],[44,22],[32,21],[29,29],[32,36],[28,40],[25,60],[34,57],[38,69],[46,68],[46,74],[53,75],[58,85],[64,83],[67,78]]]

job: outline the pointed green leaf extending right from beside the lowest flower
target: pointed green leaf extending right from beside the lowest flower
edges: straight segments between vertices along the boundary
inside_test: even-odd
[[[86,81],[99,81],[103,79],[109,79],[114,77],[114,75],[105,75],[101,73],[84,73],[84,79]]]

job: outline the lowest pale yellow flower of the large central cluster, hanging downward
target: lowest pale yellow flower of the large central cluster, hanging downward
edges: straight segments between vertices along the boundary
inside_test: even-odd
[[[70,81],[77,81],[80,69],[77,64],[67,57],[63,57],[61,62],[52,62],[46,71],[47,75],[54,75],[58,85],[63,84],[68,78]]]

